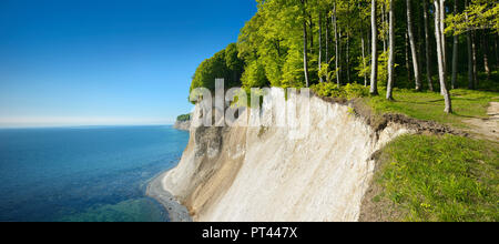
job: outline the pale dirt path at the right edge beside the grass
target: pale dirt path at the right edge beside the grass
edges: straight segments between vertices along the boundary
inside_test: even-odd
[[[499,102],[491,102],[487,114],[488,119],[470,119],[465,122],[471,125],[470,132],[479,138],[499,141]]]

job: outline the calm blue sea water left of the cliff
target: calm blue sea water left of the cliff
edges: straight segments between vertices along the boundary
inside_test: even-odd
[[[145,187],[187,141],[171,126],[0,130],[0,221],[167,221]]]

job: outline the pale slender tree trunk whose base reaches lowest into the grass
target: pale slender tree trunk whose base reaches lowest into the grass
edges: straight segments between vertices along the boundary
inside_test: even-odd
[[[445,101],[445,109],[444,111],[446,113],[451,113],[452,112],[452,104],[450,101],[450,94],[447,91],[447,87],[446,87],[446,75],[445,75],[445,71],[444,71],[444,53],[442,53],[442,33],[440,32],[440,27],[441,23],[440,21],[444,19],[441,18],[441,14],[444,14],[444,12],[441,12],[441,6],[444,3],[445,0],[440,0],[440,3],[438,2],[438,0],[435,0],[435,39],[437,40],[437,55],[438,55],[438,77],[440,80],[440,90],[441,93],[444,95],[444,101]]]

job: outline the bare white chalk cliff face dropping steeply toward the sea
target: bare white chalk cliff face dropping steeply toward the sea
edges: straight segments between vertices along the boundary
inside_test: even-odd
[[[272,121],[269,126],[191,128],[182,160],[163,187],[194,221],[358,220],[375,166],[371,155],[409,131],[388,124],[376,134],[347,105],[299,94],[282,98],[282,90],[272,89],[273,102],[264,101],[261,113],[238,118],[256,114]],[[289,114],[298,114],[294,123]],[[193,120],[200,118],[196,108]]]

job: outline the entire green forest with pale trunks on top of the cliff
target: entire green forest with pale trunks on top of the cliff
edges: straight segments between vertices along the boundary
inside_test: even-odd
[[[493,0],[257,0],[237,43],[203,61],[191,91],[312,88],[320,95],[497,88],[499,2]],[[383,91],[383,93],[380,92]],[[349,96],[350,98],[350,96]]]

